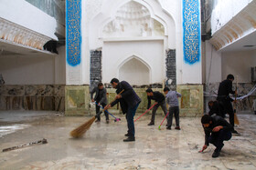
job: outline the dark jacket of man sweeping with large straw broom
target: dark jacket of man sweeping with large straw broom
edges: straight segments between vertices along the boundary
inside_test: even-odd
[[[128,107],[133,108],[135,105],[141,102],[140,97],[134,92],[133,87],[126,81],[119,82],[116,88],[116,94],[119,94],[122,90],[122,98],[116,99],[112,102],[112,106],[120,102],[123,114],[127,113]]]

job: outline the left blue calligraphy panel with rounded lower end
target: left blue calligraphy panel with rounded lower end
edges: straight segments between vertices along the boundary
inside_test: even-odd
[[[66,45],[69,65],[80,65],[81,0],[66,0]]]

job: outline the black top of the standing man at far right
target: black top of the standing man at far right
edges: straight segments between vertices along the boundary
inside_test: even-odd
[[[232,90],[232,81],[229,79],[223,80],[219,84],[218,97],[217,100],[229,100],[233,101],[229,94],[235,94],[235,91]]]

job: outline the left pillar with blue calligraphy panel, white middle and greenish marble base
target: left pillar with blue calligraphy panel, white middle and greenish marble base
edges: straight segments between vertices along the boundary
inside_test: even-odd
[[[65,114],[89,114],[89,85],[83,85],[81,64],[81,0],[66,0]]]

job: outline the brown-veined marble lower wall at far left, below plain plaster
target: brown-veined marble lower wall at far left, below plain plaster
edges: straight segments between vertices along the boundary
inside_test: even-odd
[[[0,110],[65,109],[65,85],[0,85]]]

